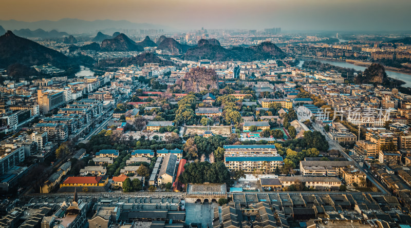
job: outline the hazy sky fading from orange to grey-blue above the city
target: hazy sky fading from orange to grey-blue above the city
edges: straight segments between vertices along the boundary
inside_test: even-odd
[[[411,0],[1,0],[0,19],[126,19],[177,29],[411,30]]]

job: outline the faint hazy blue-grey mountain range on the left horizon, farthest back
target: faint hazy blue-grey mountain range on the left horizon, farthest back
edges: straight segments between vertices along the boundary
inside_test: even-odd
[[[0,20],[0,25],[5,29],[44,29],[47,31],[59,29],[68,33],[90,33],[105,29],[169,29],[166,26],[148,23],[133,23],[128,20],[81,20],[64,18],[57,21],[39,20],[38,22],[22,22],[18,20]]]

